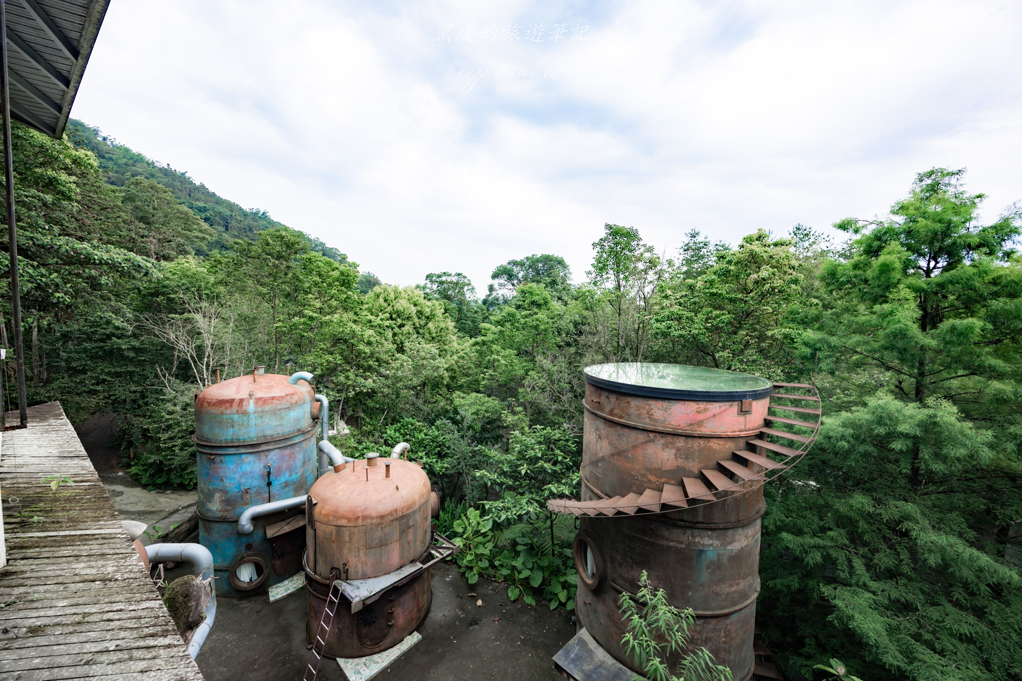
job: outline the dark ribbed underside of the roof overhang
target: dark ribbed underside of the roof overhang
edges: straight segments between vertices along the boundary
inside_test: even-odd
[[[109,0],[6,0],[10,116],[63,135]]]

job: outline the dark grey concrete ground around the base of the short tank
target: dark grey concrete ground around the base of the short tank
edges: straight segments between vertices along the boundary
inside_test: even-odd
[[[175,573],[177,574],[177,573]],[[468,583],[448,563],[432,571],[433,604],[419,629],[422,640],[377,679],[430,681],[563,681],[552,660],[574,636],[571,614],[509,603],[507,587]],[[470,593],[475,595],[469,595]],[[269,602],[266,593],[217,600],[217,620],[196,662],[207,681],[301,679],[306,643],[305,589]],[[481,599],[482,605],[476,605]],[[499,618],[499,620],[497,620]],[[336,661],[323,659],[319,679],[343,680]]]

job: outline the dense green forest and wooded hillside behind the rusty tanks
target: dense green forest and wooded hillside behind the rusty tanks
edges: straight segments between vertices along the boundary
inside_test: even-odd
[[[840,243],[750,228],[659,252],[606,225],[587,272],[527,255],[480,297],[460,273],[381,284],[82,124],[15,126],[14,167],[30,399],[115,414],[142,484],[195,484],[193,397],[218,372],[310,371],[340,449],[412,444],[470,581],[570,609],[573,526],[545,501],[577,494],[583,367],[814,381],[820,439],[763,519],[757,623],[786,673],[1022,679],[1020,213],[980,224],[963,172],[837,222]]]

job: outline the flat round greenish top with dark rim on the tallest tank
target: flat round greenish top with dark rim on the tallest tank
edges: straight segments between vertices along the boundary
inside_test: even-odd
[[[729,402],[770,397],[774,384],[751,374],[706,367],[621,361],[594,364],[583,372],[586,381],[630,395]]]

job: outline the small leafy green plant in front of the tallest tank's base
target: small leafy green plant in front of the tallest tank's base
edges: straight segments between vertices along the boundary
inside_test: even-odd
[[[653,589],[645,570],[639,576],[639,592],[621,592],[618,610],[628,623],[621,646],[650,681],[730,681],[731,670],[717,665],[706,648],[686,651],[695,613],[668,603],[667,594]],[[667,659],[682,653],[676,675]]]

